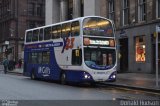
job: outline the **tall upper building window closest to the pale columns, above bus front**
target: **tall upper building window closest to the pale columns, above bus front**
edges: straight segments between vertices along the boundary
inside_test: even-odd
[[[109,19],[114,20],[114,0],[108,0],[108,7],[109,7]]]

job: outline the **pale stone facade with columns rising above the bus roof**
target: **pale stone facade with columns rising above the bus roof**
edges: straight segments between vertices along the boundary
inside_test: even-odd
[[[99,0],[46,0],[46,25],[89,15],[100,15]]]

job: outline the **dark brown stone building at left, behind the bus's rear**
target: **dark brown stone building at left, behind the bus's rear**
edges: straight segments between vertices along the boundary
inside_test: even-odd
[[[44,22],[45,0],[0,0],[0,61],[23,59],[25,30]]]

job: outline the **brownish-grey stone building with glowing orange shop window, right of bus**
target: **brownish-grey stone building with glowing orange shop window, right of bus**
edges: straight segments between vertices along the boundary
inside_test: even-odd
[[[155,73],[154,33],[160,25],[160,0],[101,0],[100,7],[101,16],[116,26],[119,72]]]

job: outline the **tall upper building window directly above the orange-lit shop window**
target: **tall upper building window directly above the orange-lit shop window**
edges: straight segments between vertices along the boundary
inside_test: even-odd
[[[146,0],[139,0],[139,21],[146,20]]]

